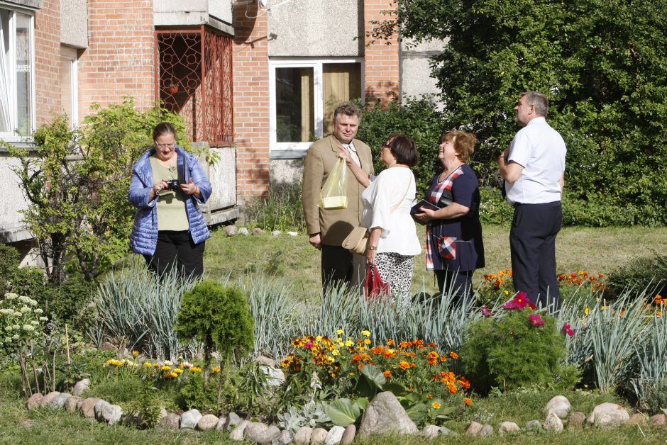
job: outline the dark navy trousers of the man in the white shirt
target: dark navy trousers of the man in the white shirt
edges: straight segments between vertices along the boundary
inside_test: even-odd
[[[553,303],[561,308],[556,277],[556,235],[563,223],[561,201],[514,205],[509,230],[512,278],[517,291],[543,308]]]

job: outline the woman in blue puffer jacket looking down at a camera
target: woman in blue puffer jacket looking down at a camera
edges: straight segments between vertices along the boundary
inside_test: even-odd
[[[202,276],[211,234],[198,205],[211,196],[211,183],[197,157],[176,145],[170,123],[155,126],[153,141],[132,171],[128,199],[137,211],[130,247],[160,275],[177,267],[184,276]]]

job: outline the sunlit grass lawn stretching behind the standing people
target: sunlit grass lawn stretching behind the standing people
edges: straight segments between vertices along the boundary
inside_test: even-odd
[[[422,243],[425,228],[418,227]],[[486,264],[475,274],[482,281],[484,274],[510,269],[509,227],[484,227]],[[629,259],[667,251],[667,227],[566,227],[556,238],[558,273],[580,270],[608,274]],[[224,230],[216,230],[206,243],[204,266],[210,278],[231,274],[238,278],[253,271],[263,270],[272,276],[293,283],[296,295],[312,295],[320,288],[320,255],[308,243],[307,235],[290,237],[270,234],[226,237]],[[434,276],[427,273],[424,255],[415,258],[413,293],[421,290],[436,291]]]

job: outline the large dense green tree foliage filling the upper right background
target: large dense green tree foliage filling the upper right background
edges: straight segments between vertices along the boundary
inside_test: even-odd
[[[656,0],[404,0],[395,25],[446,41],[431,59],[444,127],[478,136],[483,184],[517,132],[519,94],[542,91],[568,146],[566,198],[583,217],[613,209],[586,223],[665,225],[666,20]]]

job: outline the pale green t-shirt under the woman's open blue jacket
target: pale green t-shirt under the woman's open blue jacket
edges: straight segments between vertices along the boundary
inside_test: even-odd
[[[150,157],[150,167],[153,169],[153,184],[162,179],[178,179],[176,167],[162,167],[158,158]],[[182,190],[172,191],[170,188],[158,193],[158,230],[188,230],[185,200],[187,196]]]

